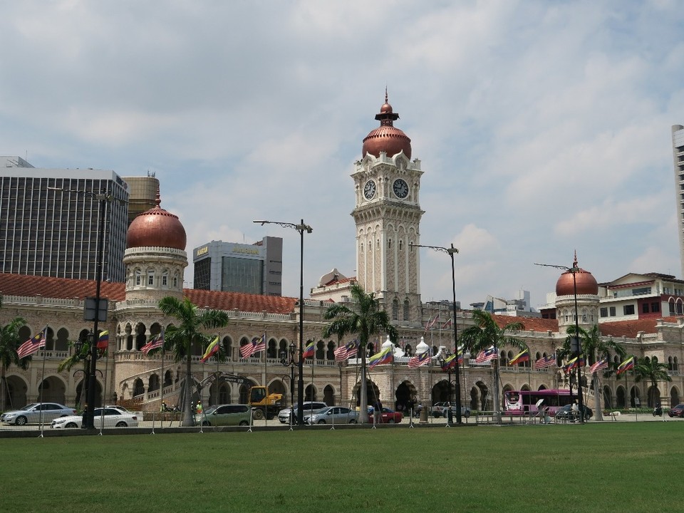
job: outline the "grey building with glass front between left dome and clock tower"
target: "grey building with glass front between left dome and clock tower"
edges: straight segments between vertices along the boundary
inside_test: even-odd
[[[212,241],[192,252],[195,289],[281,296],[283,239],[254,244]]]

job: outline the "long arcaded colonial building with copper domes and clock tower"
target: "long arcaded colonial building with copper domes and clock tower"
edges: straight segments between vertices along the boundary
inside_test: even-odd
[[[420,300],[420,259],[410,244],[420,244],[423,211],[419,192],[423,171],[419,160],[410,160],[410,139],[393,126],[398,115],[393,113],[386,96],[375,118],[380,120],[380,128],[372,130],[363,140],[362,158],[354,164],[351,175],[356,195],[352,215],[356,223],[358,276],[346,277],[333,269],[311,289],[310,299],[304,299],[303,338],[313,341],[315,346],[314,358],[304,363],[304,393],[307,400],[324,400],[331,405],[359,403],[360,359],[337,363],[333,351],[338,343],[349,340],[321,336],[328,305],[331,301],[349,301],[349,287],[358,282],[380,299],[400,333],[394,362],[377,366],[368,373],[371,381],[368,402],[380,401],[400,409],[419,402],[430,405],[452,397],[450,371],[442,371],[437,361],[447,351],[455,351],[453,329],[460,336],[465,328],[472,326],[472,314],[459,309],[453,319],[450,301],[423,303]],[[229,316],[226,327],[210,333],[219,336],[229,355],[227,363],[212,360],[200,363],[204,348],[192,350],[192,373],[198,383],[222,371],[241,375],[257,385],[267,385],[271,393],[290,398],[297,380],[290,382],[289,362],[281,355],[286,355],[291,343],[299,341],[299,299],[183,289],[183,269],[187,266],[185,245],[185,229],[180,219],[162,209],[158,196],[156,206],[139,214],[130,224],[123,256],[125,283],[104,282],[101,289],[101,296],[109,302],[108,317],[100,322],[100,329],[109,331],[110,348],[108,356],[98,361],[95,394],[98,404],[126,400],[134,401],[143,410],[158,410],[162,398],[167,404],[178,402],[180,381],[185,373],[183,363],[172,361],[168,354],[145,356],[140,351],[162,327],[174,322],[157,306],[165,296],[185,296],[199,309],[220,309]],[[351,241],[349,246],[352,247]],[[574,268],[579,269],[576,260]],[[609,317],[603,319],[604,296],[609,295],[609,290],[625,289],[620,288],[623,284],[626,281],[618,279],[599,286],[589,271],[579,269],[575,274],[566,271],[556,282],[554,304],[549,307],[554,310],[553,316],[512,319],[494,315],[499,326],[512,320],[523,323],[524,329],[517,336],[529,346],[532,362],[510,366],[509,360],[517,353],[512,347],[503,348],[497,361],[484,364],[476,363],[475,355],[472,358],[466,355],[460,369],[462,401],[474,410],[493,410],[494,386],[499,390],[569,387],[569,380],[558,368],[537,370],[534,361],[554,355],[556,348],[563,345],[569,326],[578,323],[582,328],[591,328],[598,323],[603,336],[622,343],[628,353],[637,357],[655,356],[667,363],[672,378],[671,382],[654,386],[624,378],[594,376],[601,379],[600,390],[606,405],[618,408],[655,400],[662,400],[663,405],[679,403],[684,385],[678,368],[684,357],[684,318],[649,315],[616,321],[609,321]],[[658,302],[663,311],[670,300],[663,299],[662,294],[666,293],[661,289],[658,289]],[[26,339],[48,327],[47,346],[33,355],[28,370],[6,369],[8,404],[17,407],[41,396],[43,400],[68,405],[80,402],[83,371],[60,372],[57,368],[70,354],[69,342],[86,336],[92,326],[83,321],[83,308],[86,296],[93,296],[94,291],[95,282],[89,280],[0,274],[3,301],[0,323],[4,325],[16,316],[25,318],[27,325],[21,335]],[[653,313],[653,302],[648,301],[649,314]],[[675,300],[675,309],[676,304]],[[264,334],[266,351],[241,358],[239,348]],[[381,334],[363,351],[373,353],[387,343]],[[409,368],[409,356],[425,348],[432,352],[430,365]],[[494,365],[499,366],[499,383],[493,382]],[[591,379],[585,374],[582,380],[589,405],[593,405],[592,393],[586,385],[591,384]],[[209,405],[247,400],[244,385],[220,379],[202,389],[201,394],[204,403]]]

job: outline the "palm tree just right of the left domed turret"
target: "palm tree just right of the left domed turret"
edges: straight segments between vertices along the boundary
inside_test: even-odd
[[[192,426],[192,346],[199,344],[205,347],[210,337],[201,330],[222,328],[228,324],[228,314],[220,310],[204,310],[199,312],[197,306],[190,299],[181,301],[173,296],[167,296],[159,301],[159,309],[165,316],[179,321],[178,326],[171,325],[164,333],[164,346],[173,351],[176,362],[185,358],[185,414],[184,426]]]

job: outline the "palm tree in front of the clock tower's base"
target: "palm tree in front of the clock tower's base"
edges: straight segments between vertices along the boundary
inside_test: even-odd
[[[326,320],[333,321],[323,328],[323,338],[333,335],[338,341],[344,336],[358,335],[358,347],[361,351],[361,402],[359,404],[359,422],[368,422],[368,389],[366,383],[366,346],[372,336],[385,332],[390,341],[396,343],[398,339],[397,329],[390,324],[387,312],[380,309],[380,301],[373,294],[366,294],[358,284],[353,284],[350,289],[351,308],[346,304],[336,303],[328,307],[323,315]]]

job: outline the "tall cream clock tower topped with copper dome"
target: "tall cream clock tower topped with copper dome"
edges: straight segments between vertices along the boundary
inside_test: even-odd
[[[411,140],[393,123],[399,118],[388,103],[375,119],[375,128],[363,140],[361,160],[351,177],[356,190],[356,276],[366,292],[372,292],[390,319],[421,322],[420,244],[418,202],[420,160],[411,161]]]

